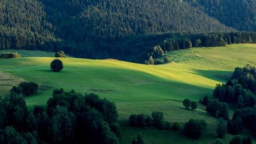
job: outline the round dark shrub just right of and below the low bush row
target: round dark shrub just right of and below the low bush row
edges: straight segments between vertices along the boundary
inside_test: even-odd
[[[191,139],[199,139],[205,129],[206,123],[204,120],[191,119],[184,125],[185,135]]]

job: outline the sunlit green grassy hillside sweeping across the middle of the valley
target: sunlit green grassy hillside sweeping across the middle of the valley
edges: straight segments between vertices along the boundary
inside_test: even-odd
[[[212,96],[217,83],[225,82],[234,67],[256,65],[256,45],[232,44],[218,48],[192,48],[169,52],[175,63],[143,65],[118,60],[87,60],[61,58],[64,69],[52,72],[53,57],[23,57],[0,60],[0,75],[12,75],[13,79],[52,86],[26,99],[28,106],[45,105],[53,88],[75,89],[77,92],[93,92],[116,102],[123,130],[123,142],[130,143],[139,132],[146,143],[212,143],[216,138],[216,119],[200,106],[196,111],[185,110],[180,100],[198,100]],[[1,86],[11,79],[4,79]],[[0,80],[1,81],[1,80]],[[11,85],[11,84],[9,84]],[[0,86],[0,88],[1,88]],[[3,90],[3,89],[0,89]],[[184,123],[191,118],[204,119],[208,132],[199,141],[190,140],[181,132],[154,129],[129,128],[127,119],[133,113],[150,114],[164,112],[165,120]],[[246,133],[246,131],[245,131]],[[157,138],[156,138],[157,137]],[[225,142],[232,138],[228,135]]]

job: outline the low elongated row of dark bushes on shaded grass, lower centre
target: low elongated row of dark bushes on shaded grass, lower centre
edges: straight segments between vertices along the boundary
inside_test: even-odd
[[[152,112],[151,116],[145,114],[132,114],[129,117],[129,124],[132,127],[156,127],[160,130],[170,130],[174,129],[178,131],[180,126],[178,123],[174,123],[173,125],[168,122],[164,121],[164,114],[162,112]]]

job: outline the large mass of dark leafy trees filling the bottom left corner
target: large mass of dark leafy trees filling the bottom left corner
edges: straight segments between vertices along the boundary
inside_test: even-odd
[[[120,143],[115,104],[94,94],[55,89],[46,110],[29,111],[24,97],[11,92],[0,99],[0,113],[2,144]]]

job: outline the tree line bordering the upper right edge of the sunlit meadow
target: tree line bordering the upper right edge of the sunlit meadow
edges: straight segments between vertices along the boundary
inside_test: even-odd
[[[164,56],[164,52],[171,52],[180,49],[192,47],[218,47],[227,44],[244,44],[256,43],[255,32],[214,32],[201,34],[170,34],[156,44],[155,47],[149,48],[144,54],[144,64],[154,64],[150,61]],[[148,62],[148,63],[146,63]],[[155,62],[156,63],[156,62]],[[156,63],[157,64],[157,63]],[[163,62],[162,62],[163,64]]]

